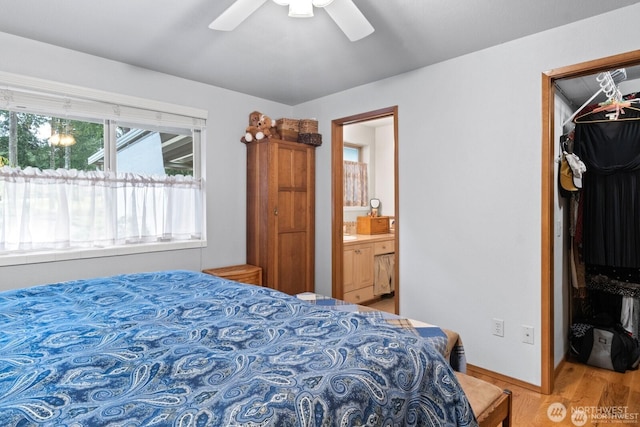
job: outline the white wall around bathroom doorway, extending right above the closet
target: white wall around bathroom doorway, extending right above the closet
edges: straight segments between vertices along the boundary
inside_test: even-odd
[[[637,16],[630,6],[296,107],[330,135],[332,119],[398,105],[400,311],[460,332],[471,364],[540,385],[541,74],[638,49]],[[329,144],[317,166],[316,287],[330,293]]]

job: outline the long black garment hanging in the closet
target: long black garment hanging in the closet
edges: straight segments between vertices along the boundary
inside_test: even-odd
[[[640,109],[625,108],[578,118],[574,152],[583,175],[585,264],[640,267]]]

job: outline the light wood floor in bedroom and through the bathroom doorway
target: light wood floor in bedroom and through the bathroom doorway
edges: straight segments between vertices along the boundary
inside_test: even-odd
[[[369,306],[390,313],[395,310],[393,298],[385,298]],[[621,374],[568,360],[562,363],[550,395],[486,374],[472,371],[469,374],[511,390],[514,427],[640,426],[640,370]],[[550,418],[549,413],[562,414],[563,408],[564,419]],[[593,416],[587,411],[591,411]],[[607,419],[608,413],[614,412],[626,420]]]

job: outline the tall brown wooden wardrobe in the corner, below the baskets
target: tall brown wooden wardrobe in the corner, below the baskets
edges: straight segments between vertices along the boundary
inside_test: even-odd
[[[247,263],[263,286],[314,291],[315,146],[279,139],[247,145]]]

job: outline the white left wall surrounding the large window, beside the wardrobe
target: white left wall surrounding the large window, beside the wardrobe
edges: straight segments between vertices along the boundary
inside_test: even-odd
[[[208,110],[208,247],[146,255],[0,267],[0,289],[98,275],[242,264],[246,260],[246,148],[249,113],[291,117],[290,106],[0,33],[0,70]]]

